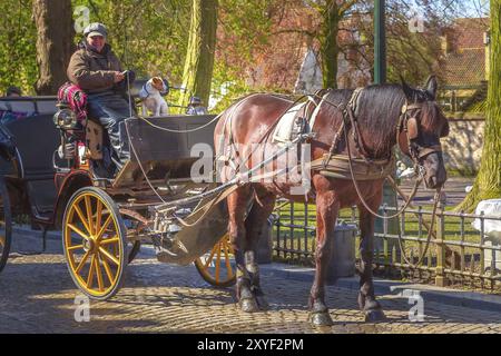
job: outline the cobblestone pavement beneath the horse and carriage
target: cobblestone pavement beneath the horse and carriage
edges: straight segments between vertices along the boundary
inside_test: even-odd
[[[51,241],[50,244],[59,243]],[[424,300],[424,323],[411,323],[407,299],[381,296],[386,323],[366,324],[356,293],[327,287],[333,327],[307,323],[310,281],[263,276],[271,309],[245,314],[233,288],[215,289],[194,266],[161,265],[141,253],[124,288],[90,303],[90,322],[75,320],[78,290],[57,246],[49,254],[12,258],[0,275],[0,333],[501,333],[499,313]]]

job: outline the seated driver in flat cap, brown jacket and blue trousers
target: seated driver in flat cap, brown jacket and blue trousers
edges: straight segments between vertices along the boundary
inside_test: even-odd
[[[102,23],[90,23],[84,30],[85,41],[72,55],[68,66],[69,80],[88,95],[88,115],[99,120],[108,131],[114,149],[111,159],[119,169],[130,157],[127,142],[120,140],[119,123],[135,113],[125,99],[127,73],[129,82],[132,72],[124,72],[117,56],[106,42],[108,31]]]

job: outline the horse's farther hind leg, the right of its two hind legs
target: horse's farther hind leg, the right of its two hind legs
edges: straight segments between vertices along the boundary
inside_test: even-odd
[[[275,195],[256,187],[256,196],[257,199],[254,201],[253,208],[250,209],[245,221],[247,231],[245,265],[250,277],[252,291],[257,300],[258,307],[262,310],[266,310],[268,308],[268,303],[266,301],[263,289],[261,288],[259,267],[257,265],[256,256],[258,241],[263,238],[267,218],[272,214],[275,206]]]

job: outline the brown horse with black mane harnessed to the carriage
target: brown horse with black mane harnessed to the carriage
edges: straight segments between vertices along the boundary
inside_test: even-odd
[[[370,86],[357,93],[356,110],[347,119],[346,103],[353,90],[327,90],[324,100],[315,99],[320,109],[312,131],[312,160],[323,157],[330,150],[347,154],[369,160],[391,157],[392,148],[399,144],[403,154],[412,157],[424,168],[424,180],[429,188],[441,187],[446,180],[440,149],[440,138],[449,134],[449,125],[435,102],[436,79],[431,77],[425,89],[414,89],[405,82],[402,86]],[[325,95],[325,96],[324,96]],[[271,144],[275,122],[292,106],[292,101],[275,95],[256,93],[240,99],[223,112],[215,130],[217,156],[224,157],[226,165],[244,161],[243,151],[249,151],[253,144]],[[411,120],[414,121],[411,128]],[[340,134],[342,123],[350,135],[341,135],[333,147],[334,136]],[[400,122],[400,125],[399,125]],[[352,123],[352,125],[351,125]],[[410,136],[412,129],[414,132]],[[347,140],[347,142],[346,142]],[[223,145],[222,145],[223,144]],[[238,149],[229,147],[238,144]],[[244,148],[244,149],[242,149]],[[255,167],[259,157],[254,155]],[[360,192],[350,179],[330,178],[320,171],[311,171],[312,189],[307,195],[311,202],[316,201],[316,271],[310,296],[310,320],[313,325],[332,325],[325,305],[325,278],[330,257],[328,239],[333,238],[338,211],[343,207],[357,205],[360,211],[360,294],[358,305],[366,320],[384,318],[374,295],[372,259],[374,216],[367,209],[377,211],[382,202],[384,179],[358,181]],[[242,185],[228,198],[229,236],[237,264],[236,296],[244,312],[266,309],[267,303],[259,286],[258,266],[255,249],[263,235],[266,219],[273,211],[277,196],[294,201],[305,201],[305,196],[289,194],[292,182],[252,182]],[[297,184],[296,184],[297,185]],[[364,197],[366,205],[362,204]],[[252,208],[250,201],[254,201]]]

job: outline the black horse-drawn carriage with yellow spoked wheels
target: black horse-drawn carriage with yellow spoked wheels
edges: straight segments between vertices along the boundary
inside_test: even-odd
[[[112,176],[99,171],[106,130],[85,126],[53,97],[0,99],[0,270],[14,218],[62,231],[70,275],[96,299],[115,295],[141,241],[160,261],[195,263],[215,286],[235,281],[223,204],[207,209],[208,181],[190,178],[196,144],[213,146],[214,116],[129,118],[121,125],[130,160]],[[181,205],[177,201],[183,202]],[[210,211],[209,211],[210,210]],[[45,234],[43,234],[45,235]]]

